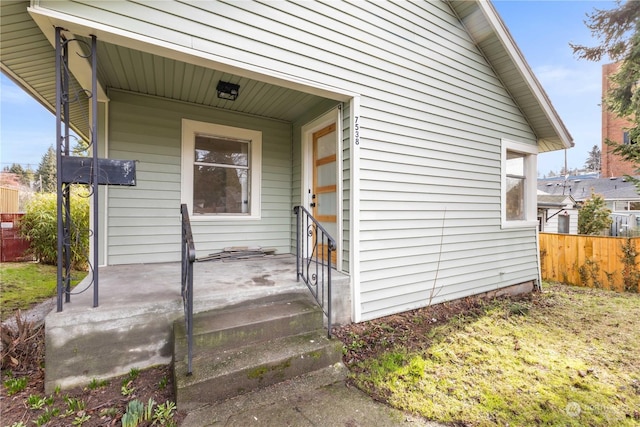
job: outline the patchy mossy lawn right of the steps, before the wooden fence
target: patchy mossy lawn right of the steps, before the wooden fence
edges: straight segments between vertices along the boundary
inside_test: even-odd
[[[430,310],[410,318],[416,327],[434,323],[417,344],[394,326],[393,344],[354,356],[352,381],[394,407],[455,425],[640,426],[640,295],[545,284],[446,322]],[[350,332],[347,352],[385,328],[379,319]]]

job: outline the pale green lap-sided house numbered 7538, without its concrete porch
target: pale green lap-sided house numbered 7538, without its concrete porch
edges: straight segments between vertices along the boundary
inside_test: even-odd
[[[52,111],[54,29],[97,37],[100,151],[137,168],[101,188],[102,265],[179,261],[181,203],[201,253],[294,253],[302,205],[356,322],[539,280],[536,156],[572,139],[491,3],[0,8],[3,73]],[[69,67],[90,90],[88,60]]]

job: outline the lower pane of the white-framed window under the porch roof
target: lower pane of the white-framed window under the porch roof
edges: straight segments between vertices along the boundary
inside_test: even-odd
[[[248,213],[247,169],[195,165],[193,168],[193,212]]]

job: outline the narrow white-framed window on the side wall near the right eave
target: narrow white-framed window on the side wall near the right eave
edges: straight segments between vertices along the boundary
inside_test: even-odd
[[[534,145],[502,141],[502,227],[535,227],[536,154]]]

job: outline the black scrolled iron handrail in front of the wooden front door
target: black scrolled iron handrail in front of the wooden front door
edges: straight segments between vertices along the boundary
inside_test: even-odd
[[[296,280],[302,279],[327,316],[327,336],[331,338],[331,261],[336,241],[303,206],[296,214]]]

